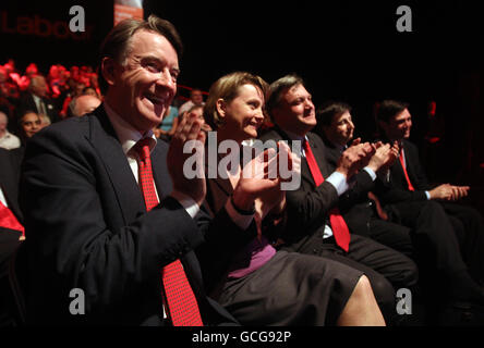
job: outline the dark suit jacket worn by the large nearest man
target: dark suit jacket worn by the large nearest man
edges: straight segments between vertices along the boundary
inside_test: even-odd
[[[21,177],[27,322],[158,325],[160,270],[176,259],[183,264],[204,323],[232,322],[205,295],[193,252],[203,234],[182,206],[167,197],[167,149],[158,141],[152,153],[161,203],[146,212],[102,105],[31,139]],[[84,315],[70,313],[73,288],[85,294]]]

